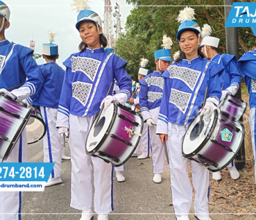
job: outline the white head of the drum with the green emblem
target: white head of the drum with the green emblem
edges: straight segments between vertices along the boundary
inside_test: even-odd
[[[182,151],[185,157],[191,156],[193,153],[196,153],[197,150],[200,151],[204,142],[211,137],[213,128],[217,123],[217,118],[218,112],[216,110],[208,121],[203,119],[201,125],[200,115],[197,115],[194,121],[192,121],[183,141]]]

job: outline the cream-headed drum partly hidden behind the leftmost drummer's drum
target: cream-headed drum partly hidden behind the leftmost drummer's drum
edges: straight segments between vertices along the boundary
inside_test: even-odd
[[[34,107],[29,118],[28,124],[26,124],[26,136],[28,144],[37,143],[45,136],[46,125],[42,120],[42,115],[37,107]]]

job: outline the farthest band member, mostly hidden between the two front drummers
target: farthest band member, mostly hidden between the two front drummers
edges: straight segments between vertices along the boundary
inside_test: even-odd
[[[138,80],[142,80],[146,75],[149,74],[150,70],[146,69],[146,64],[148,64],[148,59],[141,58],[140,60],[140,69],[138,72]],[[140,88],[140,83],[136,85],[136,89]],[[138,94],[136,96],[136,99],[133,100],[135,105],[140,104],[140,91],[138,91]],[[138,152],[140,151],[140,145],[142,145],[142,153],[140,156],[138,156]],[[150,146],[150,137],[149,137],[149,129],[148,125],[146,123],[143,124],[143,131],[140,137],[140,142],[138,143],[137,148],[135,149],[134,153],[136,156],[138,156],[138,159],[146,159],[149,157],[149,146]]]

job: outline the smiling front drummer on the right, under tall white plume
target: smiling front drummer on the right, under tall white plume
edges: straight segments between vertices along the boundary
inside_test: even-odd
[[[180,11],[176,35],[181,48],[178,59],[162,74],[165,86],[162,94],[157,134],[167,142],[170,161],[170,182],[176,219],[189,219],[192,204],[192,185],[189,180],[189,162],[192,167],[192,182],[195,188],[195,217],[211,219],[208,216],[208,191],[210,172],[182,155],[182,142],[189,124],[194,120],[203,103],[206,87],[208,96],[201,115],[208,118],[217,109],[221,88],[219,75],[221,67],[207,61],[198,50],[200,26],[194,18],[195,12],[186,7]]]

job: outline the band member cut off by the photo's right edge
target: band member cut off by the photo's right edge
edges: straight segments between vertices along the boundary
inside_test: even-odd
[[[252,31],[256,38],[256,28],[252,27]],[[238,71],[243,75],[244,82],[246,83],[249,92],[249,127],[252,136],[252,151],[255,156],[255,183],[256,183],[256,153],[255,153],[255,138],[256,138],[256,117],[255,117],[255,107],[256,107],[256,49],[244,53],[244,55],[238,60]]]

